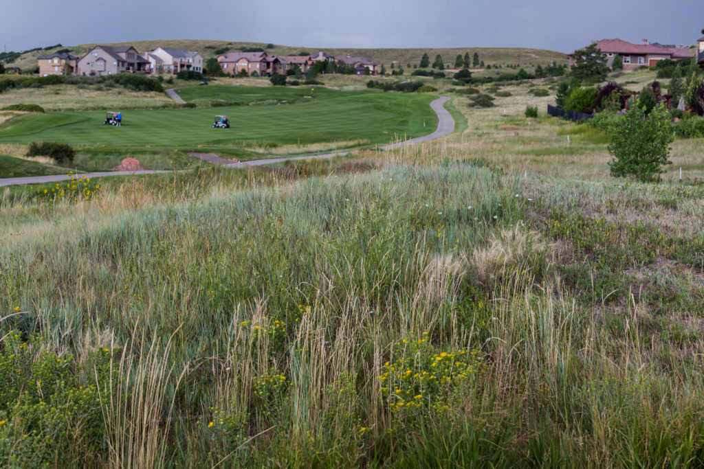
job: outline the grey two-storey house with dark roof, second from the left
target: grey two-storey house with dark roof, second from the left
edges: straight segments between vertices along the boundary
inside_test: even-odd
[[[149,60],[132,46],[95,46],[78,60],[76,75],[115,75],[116,73],[149,72]]]

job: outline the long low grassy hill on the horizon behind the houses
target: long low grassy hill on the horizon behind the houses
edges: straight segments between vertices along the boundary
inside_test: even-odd
[[[223,49],[228,52],[239,51],[243,48],[261,48],[265,49],[268,44],[260,42],[236,42],[236,41],[208,41],[198,39],[166,39],[156,41],[126,41],[126,42],[111,42],[106,43],[108,46],[122,46],[130,44],[137,48],[140,53],[151,51],[159,46],[173,47],[175,49],[187,49],[189,51],[199,51],[204,58],[217,55],[215,51]],[[37,56],[46,53],[54,53],[59,50],[68,49],[69,53],[74,56],[82,56],[87,53],[95,44],[81,44],[80,46],[61,46],[51,49],[35,50],[23,53],[19,58],[8,64],[13,67],[25,68],[37,67]],[[444,63],[453,65],[455,57],[464,56],[465,53],[470,54],[470,59],[474,52],[479,54],[479,60],[484,60],[485,64],[493,65],[520,65],[522,67],[529,65],[548,65],[555,61],[558,65],[567,63],[567,55],[556,51],[546,51],[543,49],[526,49],[526,48],[511,48],[511,47],[451,47],[446,49],[345,49],[345,48],[319,48],[319,47],[303,47],[303,46],[281,46],[274,44],[272,49],[265,49],[267,53],[275,56],[291,56],[297,55],[299,52],[305,51],[315,53],[319,50],[325,51],[333,56],[344,56],[351,54],[352,56],[366,56],[370,60],[375,60],[379,65],[384,65],[386,69],[390,68],[393,61],[396,65],[400,64],[403,68],[408,68],[408,64],[420,63],[420,58],[423,53],[427,53],[430,57],[430,62],[435,60],[435,56],[440,54]]]

